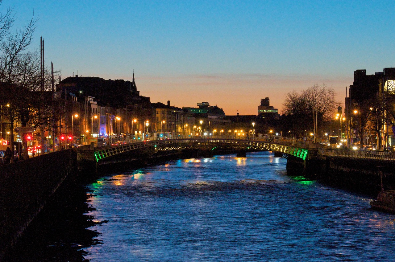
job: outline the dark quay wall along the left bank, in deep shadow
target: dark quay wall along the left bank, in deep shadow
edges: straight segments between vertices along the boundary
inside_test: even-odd
[[[0,261],[76,166],[73,150],[0,166]]]

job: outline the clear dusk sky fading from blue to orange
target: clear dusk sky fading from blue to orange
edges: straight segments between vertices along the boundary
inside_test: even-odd
[[[256,115],[325,84],[344,105],[354,71],[394,67],[394,1],[3,0],[15,28],[38,18],[33,49],[71,75],[132,80],[151,102]]]

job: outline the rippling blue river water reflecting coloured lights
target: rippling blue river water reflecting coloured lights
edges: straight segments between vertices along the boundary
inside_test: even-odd
[[[88,185],[107,261],[395,261],[395,216],[270,152],[168,161]]]

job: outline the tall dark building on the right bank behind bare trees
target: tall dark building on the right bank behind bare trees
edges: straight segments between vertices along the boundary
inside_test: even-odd
[[[362,140],[363,144],[381,144],[381,148],[395,145],[388,111],[391,109],[386,106],[395,95],[394,84],[393,67],[374,75],[367,75],[365,69],[354,71],[354,82],[345,99],[345,125],[350,143]]]

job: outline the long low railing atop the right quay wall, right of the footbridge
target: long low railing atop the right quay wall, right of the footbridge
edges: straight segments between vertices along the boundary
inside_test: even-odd
[[[361,151],[361,150],[339,150],[339,149],[318,149],[318,155],[333,157],[349,157],[355,159],[380,159],[395,161],[395,152],[384,151]]]

